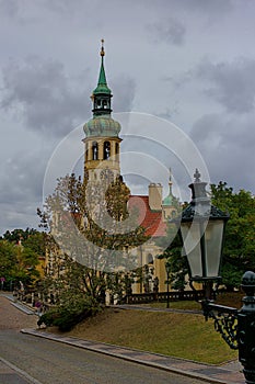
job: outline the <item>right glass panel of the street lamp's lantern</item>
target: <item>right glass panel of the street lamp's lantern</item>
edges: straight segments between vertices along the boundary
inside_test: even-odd
[[[223,226],[223,221],[211,221],[208,223],[205,231],[208,278],[216,278],[219,275]]]

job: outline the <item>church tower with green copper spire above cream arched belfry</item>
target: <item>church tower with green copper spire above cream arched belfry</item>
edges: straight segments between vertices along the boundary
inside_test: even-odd
[[[120,124],[112,118],[111,99],[104,69],[104,41],[101,47],[101,68],[97,87],[92,92],[93,117],[84,124],[84,178],[91,182],[114,181],[120,174],[118,134]]]

